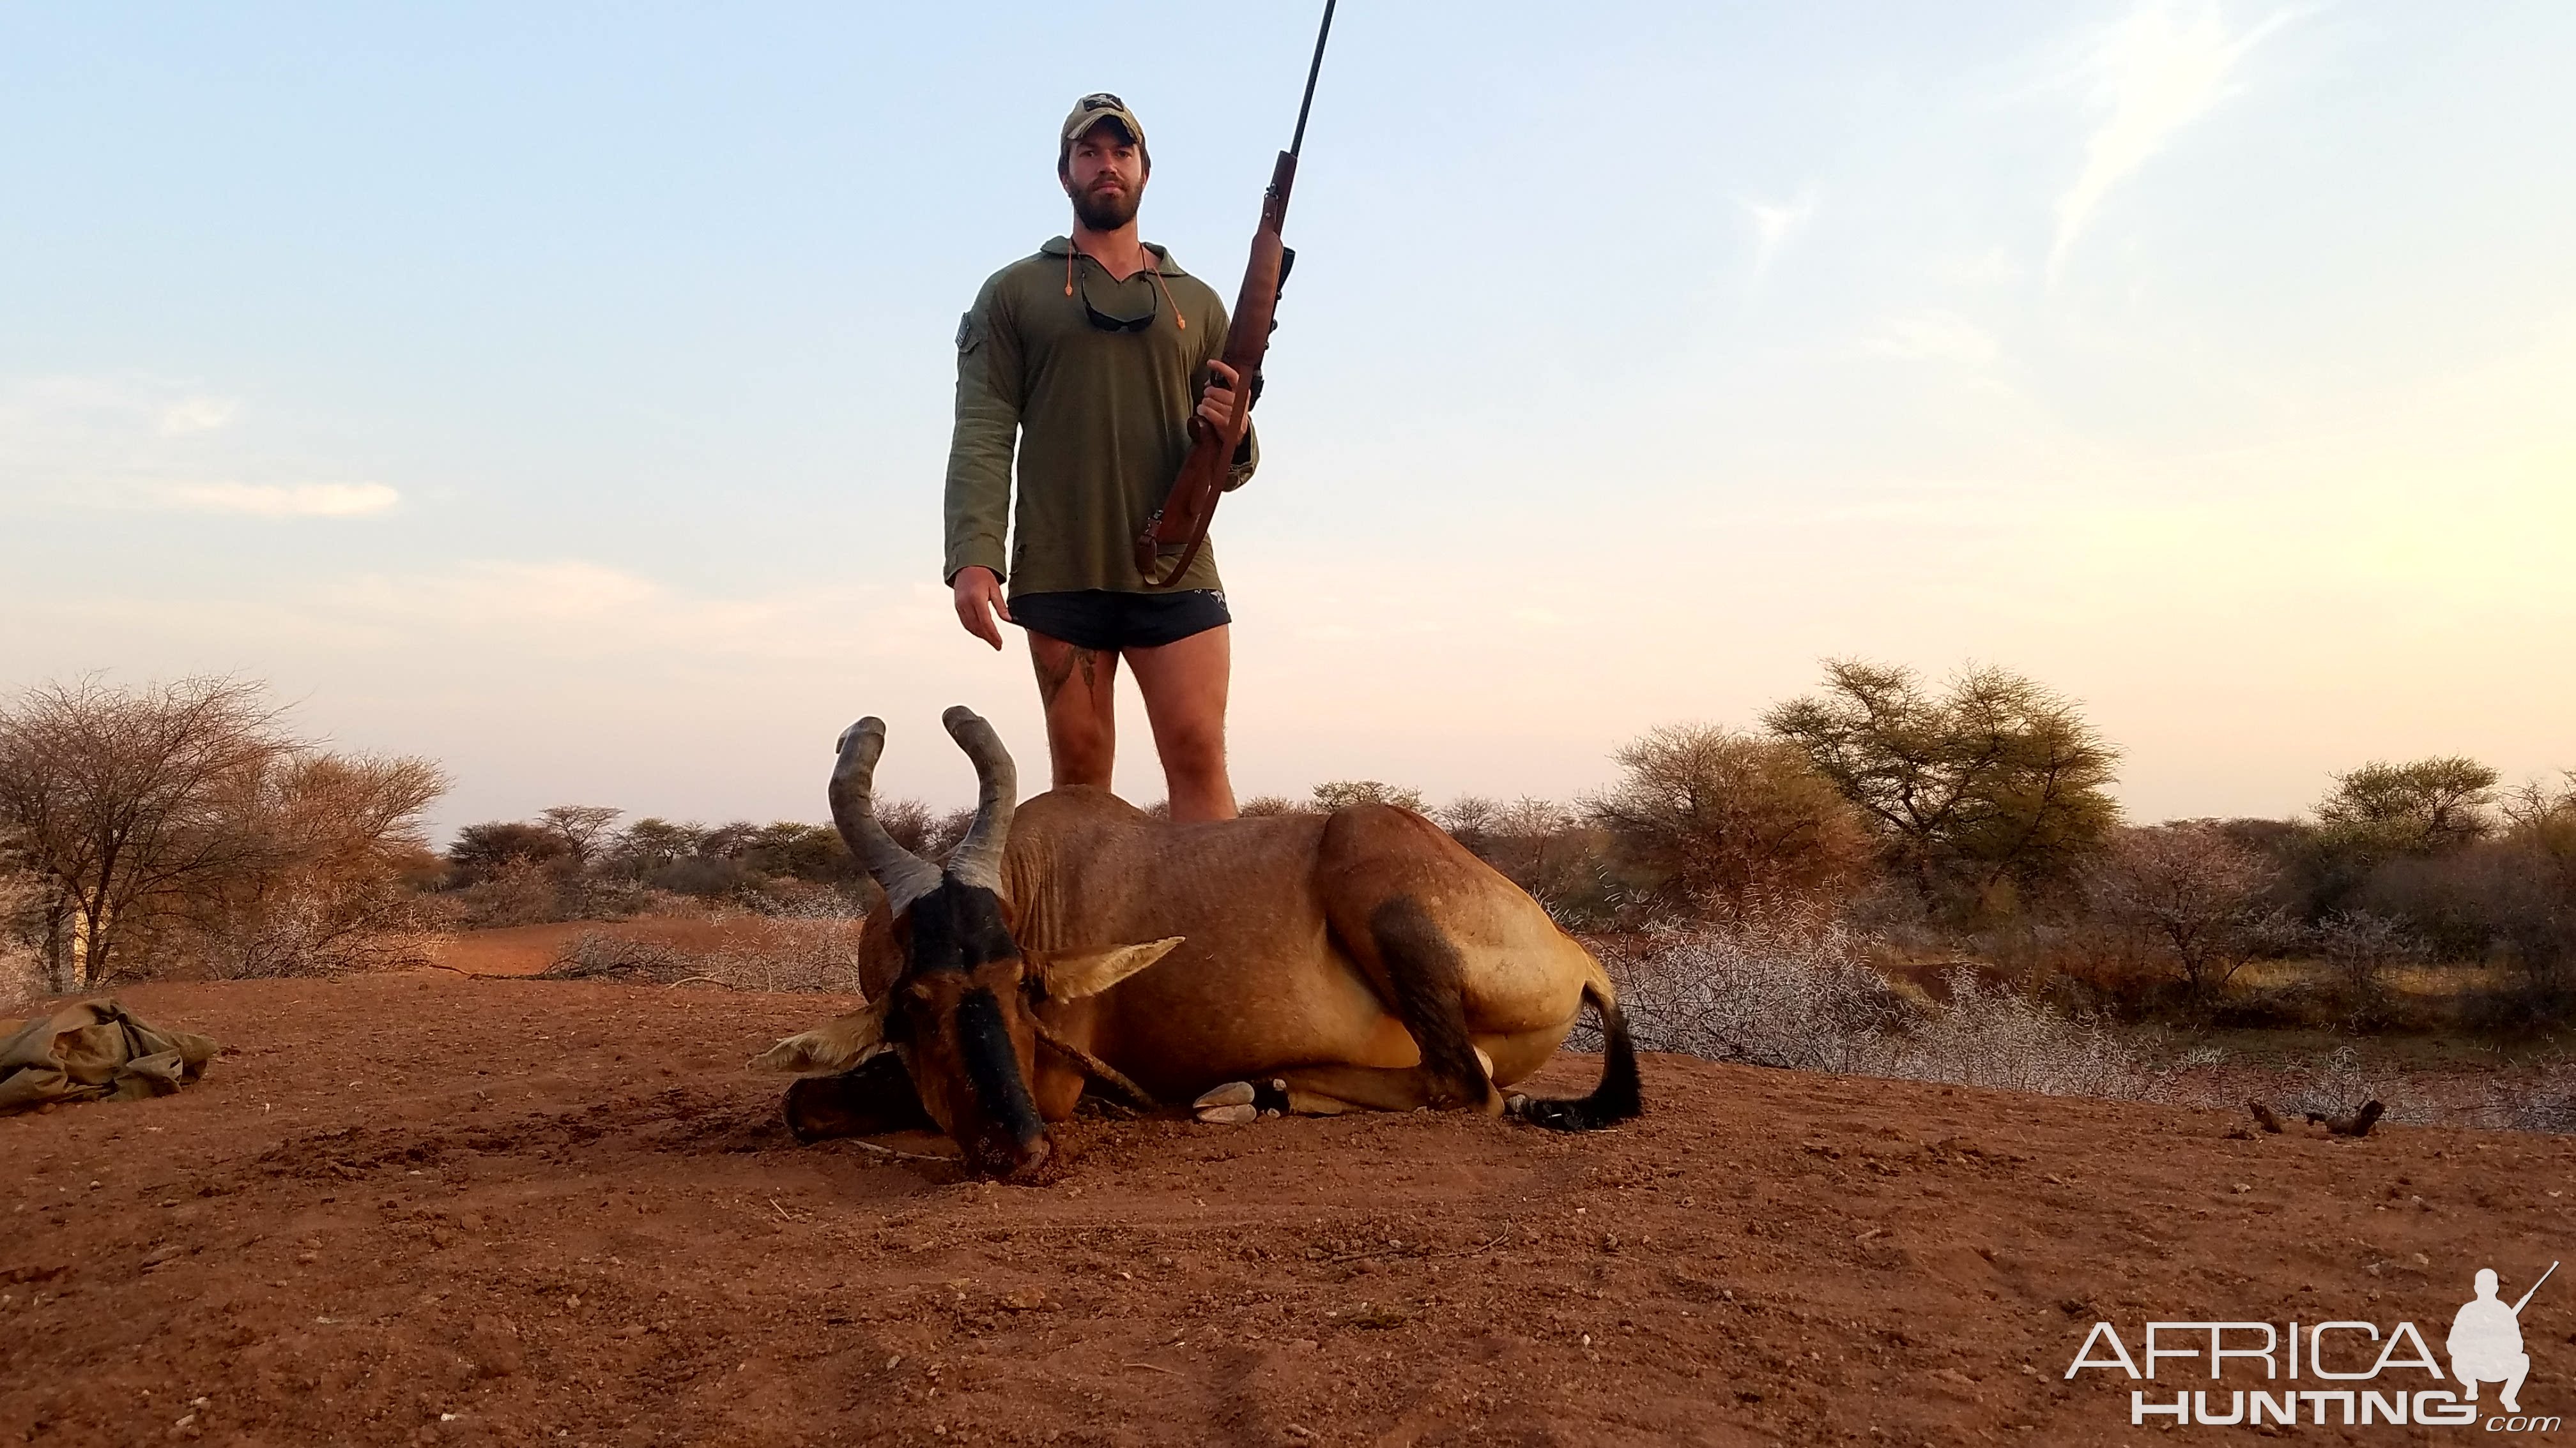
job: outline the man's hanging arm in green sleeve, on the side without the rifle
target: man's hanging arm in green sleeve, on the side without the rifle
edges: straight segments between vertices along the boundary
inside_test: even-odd
[[[943,577],[956,593],[958,624],[994,649],[1010,621],[1002,577],[1010,572],[1010,456],[1020,441],[1020,345],[999,286],[984,283],[974,309],[958,319],[958,405],[948,438],[948,562]]]

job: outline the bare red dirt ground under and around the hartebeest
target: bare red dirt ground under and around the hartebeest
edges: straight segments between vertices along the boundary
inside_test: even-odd
[[[0,1443],[2115,1443],[2130,1384],[2061,1376],[2097,1317],[2133,1353],[2290,1317],[2439,1350],[2476,1268],[2514,1296],[2576,1257],[2555,1136],[1649,1059],[1602,1136],[1084,1116],[1054,1185],[999,1188],[786,1136],[742,1062],[845,1000],[124,1000],[227,1054],[0,1118]],[[2576,1417],[2571,1329],[2561,1273],[2527,1409]]]

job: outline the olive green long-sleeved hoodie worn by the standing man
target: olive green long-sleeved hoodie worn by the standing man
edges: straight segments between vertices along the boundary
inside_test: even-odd
[[[1023,593],[1105,587],[1144,593],[1136,533],[1190,453],[1190,412],[1208,361],[1226,350],[1226,307],[1172,255],[1126,281],[1056,237],[992,273],[958,322],[958,423],[948,443],[948,569],[981,564]],[[1066,296],[1072,286],[1072,296]],[[1144,330],[1095,327],[1146,317]],[[1012,446],[1020,508],[1010,551]],[[1252,435],[1229,490],[1260,461]],[[1005,567],[1005,557],[1010,559]],[[1175,587],[1221,587],[1216,549]]]

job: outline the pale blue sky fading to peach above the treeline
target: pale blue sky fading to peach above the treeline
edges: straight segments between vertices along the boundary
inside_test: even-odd
[[[1234,294],[1309,5],[0,8],[0,691],[268,680],[546,804],[1046,778],[940,585],[956,317],[1144,119]],[[1352,0],[1236,791],[1574,799],[1821,660],[2020,670],[2133,819],[2576,768],[2576,8]],[[1133,691],[1121,794],[1162,796]]]

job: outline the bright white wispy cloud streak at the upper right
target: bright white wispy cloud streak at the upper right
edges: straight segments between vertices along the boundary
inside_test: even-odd
[[[2228,77],[2293,10],[2277,10],[2251,31],[2228,33],[2215,0],[2146,0],[2102,33],[2087,57],[2099,126],[2084,147],[2084,170],[2058,196],[2058,234],[2048,247],[2056,281],[2102,198],[2138,173],[2177,131],[2208,116],[2236,93]]]

